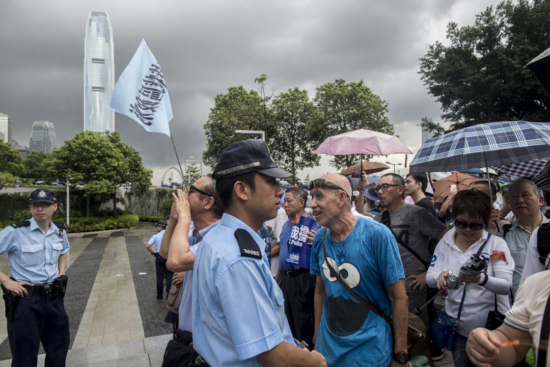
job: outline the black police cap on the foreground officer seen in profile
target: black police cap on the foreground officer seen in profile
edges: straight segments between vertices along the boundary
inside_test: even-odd
[[[250,172],[259,172],[275,178],[292,176],[291,173],[277,167],[267,144],[259,139],[241,140],[229,145],[219,156],[218,165],[212,176],[216,180],[223,180]]]

